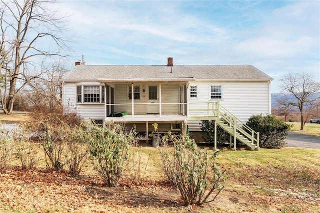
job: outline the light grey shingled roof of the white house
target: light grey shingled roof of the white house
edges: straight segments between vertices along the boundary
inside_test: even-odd
[[[103,79],[272,80],[252,65],[77,65],[63,81]]]

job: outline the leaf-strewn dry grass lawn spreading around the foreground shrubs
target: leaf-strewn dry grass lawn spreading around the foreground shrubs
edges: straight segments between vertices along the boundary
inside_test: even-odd
[[[162,174],[158,149],[141,145],[142,162],[146,163],[150,155],[141,186],[133,185],[126,174],[118,187],[105,187],[89,163],[78,178],[66,172],[47,171],[43,153],[39,153],[41,161],[37,169],[20,170],[18,162],[12,161],[9,169],[0,171],[0,212],[190,212]],[[206,149],[212,152],[211,148]],[[217,157],[220,168],[226,170],[223,191],[214,203],[191,212],[320,212],[319,159],[318,149],[231,151],[224,148]]]

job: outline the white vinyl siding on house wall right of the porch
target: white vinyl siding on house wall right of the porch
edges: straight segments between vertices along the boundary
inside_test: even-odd
[[[198,85],[198,99],[189,99],[189,108],[192,102],[215,102],[227,109],[243,123],[251,115],[269,113],[268,81],[241,81],[241,82],[196,82]],[[222,100],[210,99],[211,85],[221,85]],[[199,105],[196,105],[198,107]],[[206,107],[203,104],[203,107]],[[190,131],[200,131],[200,121],[188,121]]]

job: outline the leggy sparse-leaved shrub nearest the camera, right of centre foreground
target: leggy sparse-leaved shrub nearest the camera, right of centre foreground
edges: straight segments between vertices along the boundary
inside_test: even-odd
[[[184,205],[202,205],[213,202],[222,190],[223,173],[215,164],[218,151],[211,156],[199,149],[194,140],[180,137],[173,142],[173,151],[167,146],[160,149],[163,171],[170,182],[178,188]],[[215,196],[210,200],[212,193]]]

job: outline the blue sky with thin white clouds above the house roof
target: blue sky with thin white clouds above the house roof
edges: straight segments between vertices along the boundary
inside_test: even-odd
[[[70,64],[252,64],[279,93],[289,72],[320,82],[320,1],[71,1]],[[71,65],[70,65],[71,66]]]

